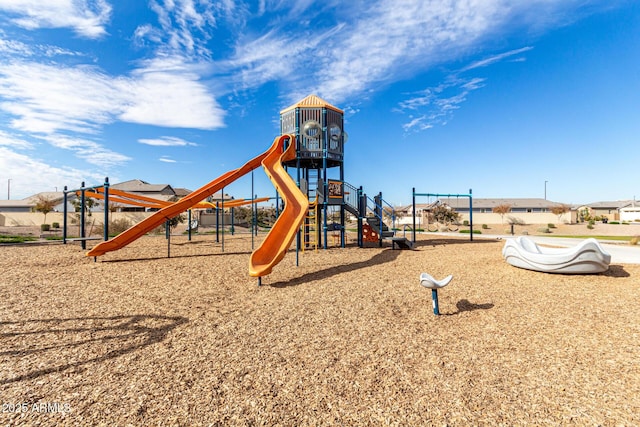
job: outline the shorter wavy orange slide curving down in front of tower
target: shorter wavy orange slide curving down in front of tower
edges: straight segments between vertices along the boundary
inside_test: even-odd
[[[272,151],[262,161],[262,167],[280,193],[285,205],[269,234],[251,254],[249,275],[252,277],[266,276],[284,258],[309,210],[309,199],[300,191],[282,165],[283,162],[295,158],[295,138],[292,136],[289,147],[282,155]]]

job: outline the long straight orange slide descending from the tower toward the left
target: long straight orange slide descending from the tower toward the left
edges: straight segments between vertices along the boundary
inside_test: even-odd
[[[208,184],[199,188],[198,190],[195,190],[193,193],[189,194],[188,196],[183,197],[179,201],[160,209],[159,211],[155,212],[153,215],[146,218],[145,220],[139,222],[138,224],[134,225],[128,230],[125,230],[122,233],[118,234],[113,239],[107,240],[106,242],[99,243],[93,249],[87,252],[87,256],[94,256],[94,257],[100,256],[100,255],[104,255],[107,252],[115,251],[125,247],[126,245],[138,239],[139,237],[147,234],[154,228],[164,224],[165,221],[175,217],[176,215],[181,214],[187,209],[198,204],[200,201],[211,196],[216,191],[221,190],[223,187],[231,184],[233,181],[237,180],[243,175],[246,175],[247,173],[256,169],[258,166],[260,166],[262,161],[269,155],[280,157],[280,154],[282,153],[282,146],[286,139],[295,141],[295,138],[289,135],[276,137],[273,140],[273,144],[267,151],[249,160],[242,167],[225,173],[224,175],[214,179],[213,181],[209,182]],[[291,145],[295,146],[295,144],[291,144]],[[293,155],[295,158],[295,151],[293,152]]]

